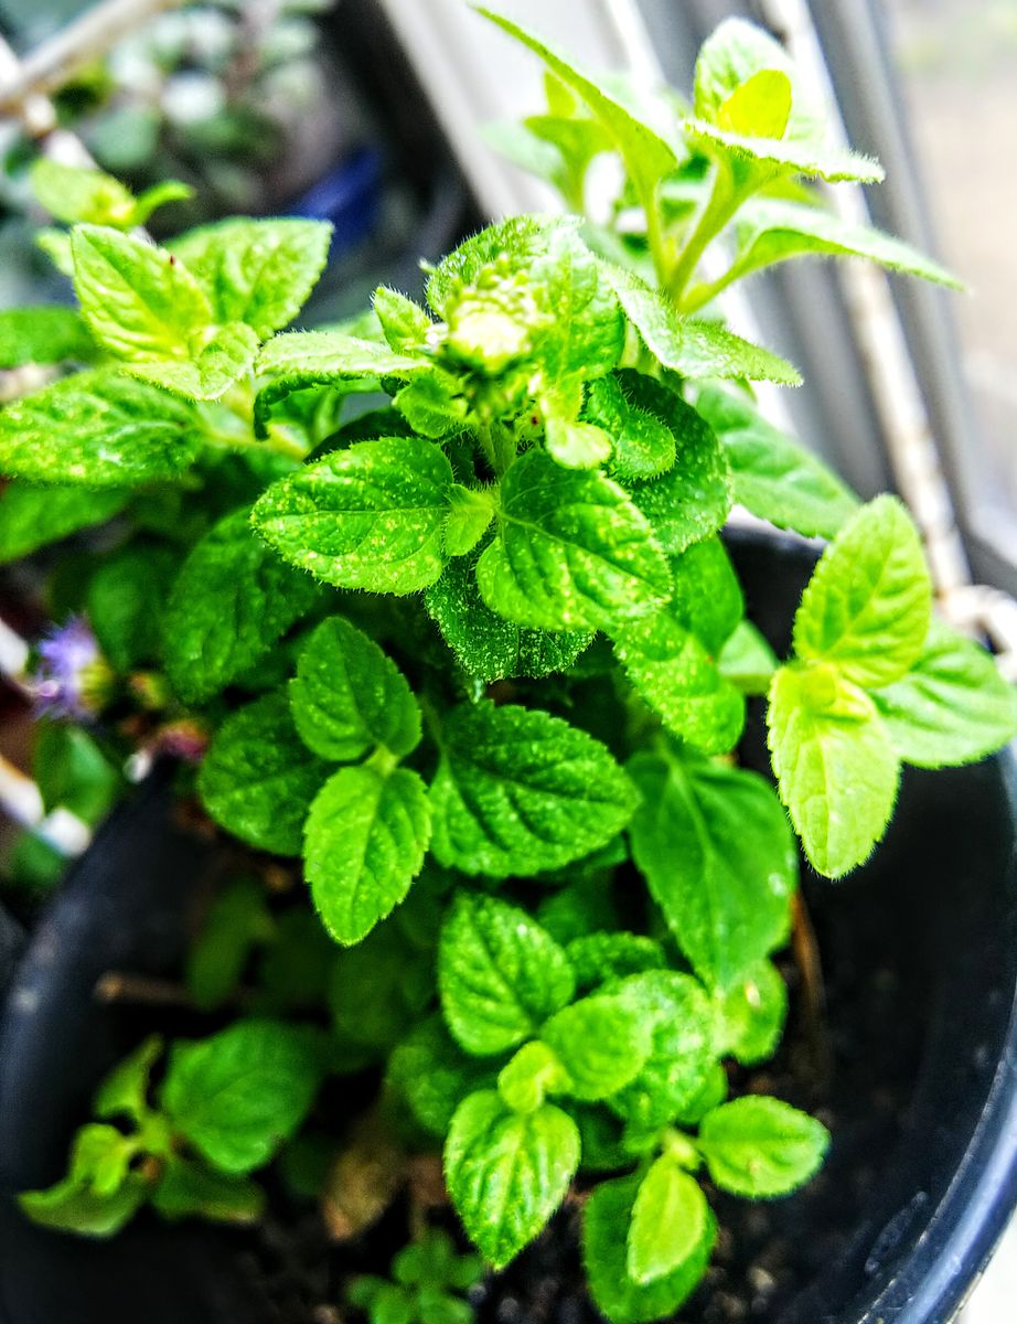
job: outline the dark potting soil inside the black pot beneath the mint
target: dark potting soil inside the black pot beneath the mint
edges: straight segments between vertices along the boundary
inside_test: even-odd
[[[906,1124],[920,1037],[902,1009],[922,1005],[920,964],[910,968],[906,957],[902,964],[899,935],[879,924],[871,904],[873,920],[859,922],[865,899],[816,880],[806,880],[805,894],[825,967],[825,1016],[817,1027],[813,1000],[787,953],[779,963],[791,992],[784,1042],[765,1066],[735,1068],[731,1094],[772,1094],[816,1113],[833,1133],[830,1155],[820,1174],[785,1200],[735,1200],[707,1184],[720,1234],[703,1284],[677,1315],[682,1324],[776,1324],[802,1288],[857,1254],[858,1229]],[[581,1202],[577,1190],[536,1242],[474,1291],[478,1324],[601,1320],[584,1287]],[[313,1206],[286,1205],[279,1192],[238,1254],[257,1324],[347,1320],[343,1282],[387,1271],[407,1237],[405,1207],[397,1204],[356,1241],[331,1246]],[[454,1230],[452,1219],[448,1226]]]

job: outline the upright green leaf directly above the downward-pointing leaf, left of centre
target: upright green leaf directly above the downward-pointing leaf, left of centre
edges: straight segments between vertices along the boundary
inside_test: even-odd
[[[323,759],[352,763],[375,747],[405,759],[420,743],[407,678],[340,616],[322,621],[301,650],[290,704],[302,740]]]

